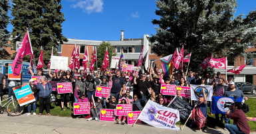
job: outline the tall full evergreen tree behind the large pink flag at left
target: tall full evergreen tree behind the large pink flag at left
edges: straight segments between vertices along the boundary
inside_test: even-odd
[[[64,13],[61,13],[63,8],[61,0],[13,0],[12,2],[13,43],[22,41],[28,29],[35,60],[39,58],[41,46],[43,46],[44,68],[47,68],[52,47],[57,48],[59,43],[63,44],[63,41],[68,41],[63,36],[61,28],[65,21]],[[54,49],[54,55],[59,56],[56,49]],[[29,60],[30,56],[24,58],[24,61],[29,62]]]

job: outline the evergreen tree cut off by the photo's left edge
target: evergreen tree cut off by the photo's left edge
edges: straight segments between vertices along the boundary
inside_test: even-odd
[[[7,31],[10,19],[8,16],[9,8],[8,0],[0,0],[0,60],[7,59],[10,55],[5,49],[11,47],[7,42],[10,37],[9,31]]]

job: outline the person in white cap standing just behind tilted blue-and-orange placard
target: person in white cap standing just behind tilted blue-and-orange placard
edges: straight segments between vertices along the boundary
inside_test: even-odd
[[[31,79],[29,80],[29,86],[31,88],[32,91],[32,95],[34,96],[35,100],[37,100],[37,92],[39,92],[39,90],[37,89],[37,85],[35,84],[35,80]],[[37,113],[35,113],[37,106],[35,105],[37,101],[33,101],[31,103],[29,103],[29,105],[27,106],[27,115],[31,115],[31,107],[33,107],[33,115],[37,115]]]

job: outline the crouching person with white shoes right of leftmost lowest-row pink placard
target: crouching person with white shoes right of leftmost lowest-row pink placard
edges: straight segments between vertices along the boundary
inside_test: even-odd
[[[99,97],[98,100],[95,102],[95,107],[93,109],[90,109],[90,112],[92,112],[92,117],[87,119],[87,121],[91,121],[92,119],[95,119],[95,121],[98,121],[98,116],[100,115],[100,109],[102,109],[103,101],[102,98]]]

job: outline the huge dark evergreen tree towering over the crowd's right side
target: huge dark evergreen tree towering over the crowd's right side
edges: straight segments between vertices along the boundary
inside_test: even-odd
[[[192,52],[189,68],[201,71],[200,64],[210,52],[214,58],[238,56],[251,58],[254,52],[246,52],[251,41],[255,41],[256,11],[234,17],[236,0],[158,0],[153,19],[158,25],[157,33],[150,42],[157,42],[152,48],[158,56],[173,54],[178,47]],[[209,68],[208,68],[209,69]]]

